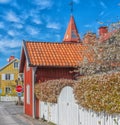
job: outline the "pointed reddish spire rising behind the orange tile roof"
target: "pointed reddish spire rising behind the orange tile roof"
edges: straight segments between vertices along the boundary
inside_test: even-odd
[[[73,15],[70,17],[70,22],[68,24],[66,33],[64,35],[63,42],[70,42],[70,43],[79,43],[80,42],[80,36],[78,34],[78,30],[75,24],[75,20]]]

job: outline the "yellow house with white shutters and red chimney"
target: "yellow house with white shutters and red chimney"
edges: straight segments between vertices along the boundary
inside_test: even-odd
[[[19,60],[11,56],[9,63],[0,69],[0,90],[1,95],[16,96],[16,85],[22,84],[19,75]]]

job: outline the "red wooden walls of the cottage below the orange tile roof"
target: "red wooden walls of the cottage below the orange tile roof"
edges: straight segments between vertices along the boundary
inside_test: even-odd
[[[53,68],[53,67],[38,67],[36,70],[36,81],[35,83],[44,82],[46,80],[53,80],[53,79],[74,79],[74,74],[70,73],[73,71],[73,68]],[[33,116],[33,91],[32,91],[32,67],[28,70],[26,68],[26,64],[24,66],[24,109],[25,114]],[[27,95],[26,95],[26,86],[30,85],[30,104],[27,104]],[[39,118],[39,100],[36,99],[35,101],[35,109],[36,114],[35,117]]]

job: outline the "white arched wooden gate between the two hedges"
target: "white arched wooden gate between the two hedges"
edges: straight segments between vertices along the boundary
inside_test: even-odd
[[[72,87],[64,87],[58,98],[58,125],[78,125],[78,105]]]

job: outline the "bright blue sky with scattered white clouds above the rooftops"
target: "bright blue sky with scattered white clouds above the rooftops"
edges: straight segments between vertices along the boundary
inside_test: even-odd
[[[71,0],[0,0],[0,67],[10,55],[20,58],[23,40],[61,42]],[[73,0],[80,36],[120,19],[119,0]],[[104,22],[101,24],[100,22]]]

